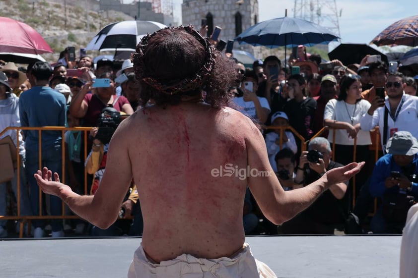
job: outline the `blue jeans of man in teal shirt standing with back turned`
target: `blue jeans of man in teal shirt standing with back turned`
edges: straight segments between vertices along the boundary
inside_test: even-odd
[[[42,165],[39,165],[38,151],[26,150],[26,176],[30,187],[30,203],[32,213],[34,216],[39,216],[39,186],[36,183],[36,179],[33,176],[37,170],[42,167],[48,167],[53,173],[57,172],[62,177],[62,153],[61,146],[50,146],[42,148]],[[62,215],[62,201],[60,198],[52,195],[45,195],[45,198],[49,198],[50,209],[52,216]],[[45,200],[43,197],[43,201]],[[44,204],[42,205],[42,216],[47,215]],[[45,220],[33,220],[32,225],[34,227],[45,228]],[[51,221],[52,231],[63,230],[63,221],[61,219],[54,219]]]

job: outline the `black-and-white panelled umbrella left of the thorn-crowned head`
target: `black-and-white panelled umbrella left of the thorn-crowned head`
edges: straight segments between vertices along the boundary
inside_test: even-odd
[[[104,27],[87,45],[86,50],[135,51],[143,36],[162,28],[164,24],[145,20],[126,20]]]

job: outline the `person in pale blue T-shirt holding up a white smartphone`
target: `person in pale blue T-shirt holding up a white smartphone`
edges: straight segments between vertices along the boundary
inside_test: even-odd
[[[265,123],[270,113],[270,106],[266,98],[259,97],[257,91],[257,75],[254,70],[247,70],[241,82],[242,97],[233,99],[238,106],[238,111],[257,119],[260,123]]]

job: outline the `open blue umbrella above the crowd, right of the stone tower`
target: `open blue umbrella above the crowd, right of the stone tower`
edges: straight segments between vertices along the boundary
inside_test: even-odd
[[[337,34],[318,24],[285,16],[257,23],[239,34],[235,41],[240,44],[276,48],[328,44],[339,38]]]

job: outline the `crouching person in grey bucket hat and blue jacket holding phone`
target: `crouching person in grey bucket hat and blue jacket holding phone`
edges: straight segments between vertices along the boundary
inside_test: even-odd
[[[396,132],[370,178],[370,194],[382,202],[370,222],[373,233],[402,233],[409,208],[418,197],[418,141],[408,131]]]

